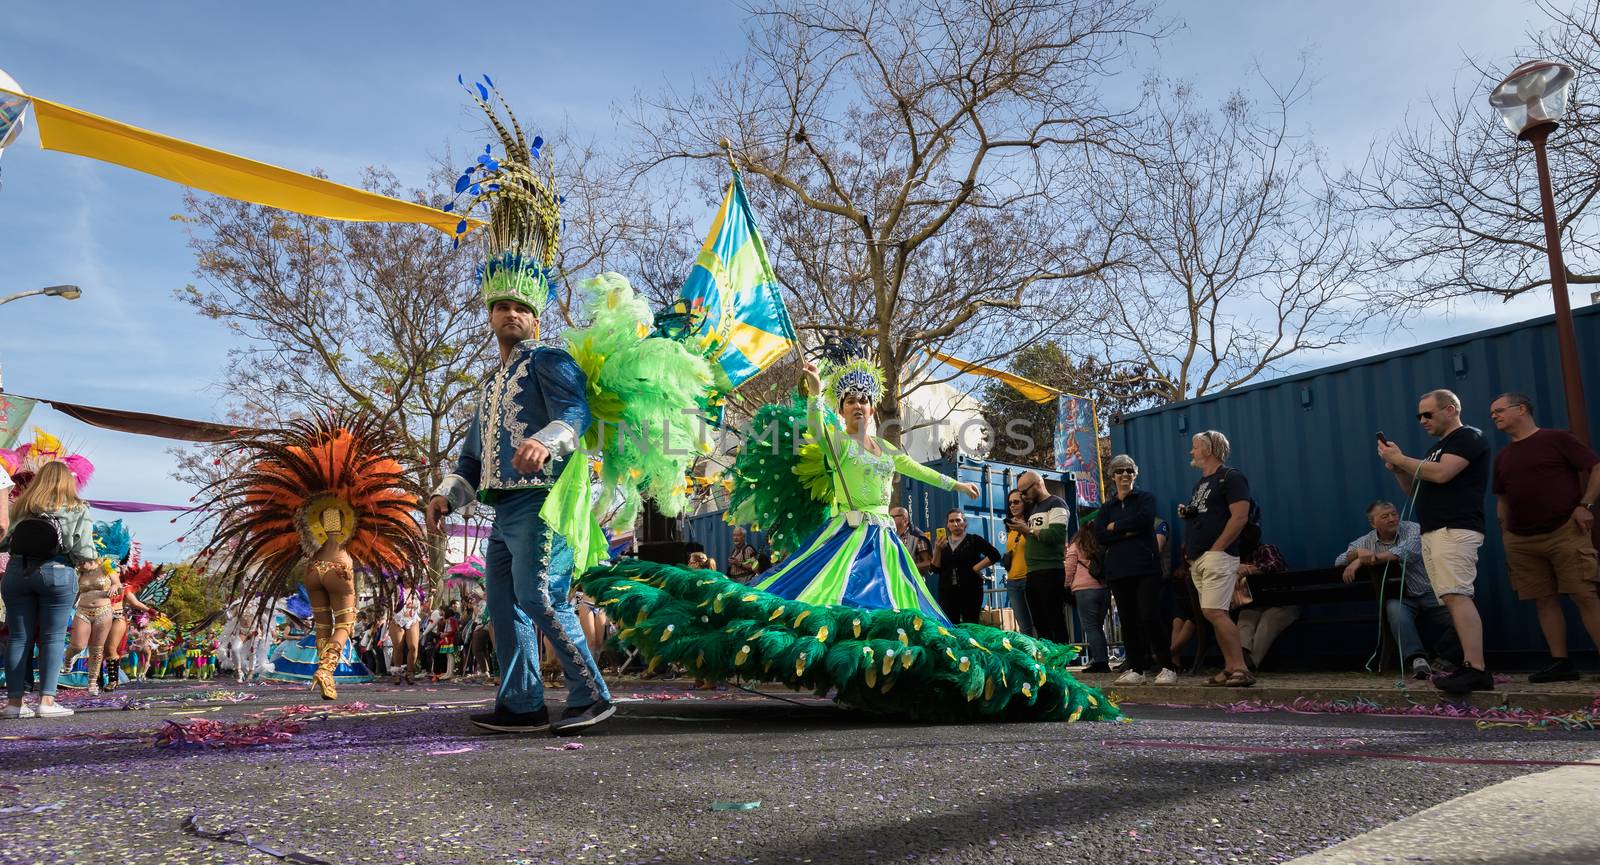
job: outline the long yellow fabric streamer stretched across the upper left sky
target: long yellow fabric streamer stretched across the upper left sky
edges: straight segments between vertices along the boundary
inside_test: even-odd
[[[14,93],[14,91],[5,91]],[[18,94],[27,96],[27,94]],[[27,96],[46,150],[77,153],[155,174],[253,205],[266,205],[346,222],[414,222],[448,235],[461,217],[414,201],[402,201],[299,171],[213,150],[198,144],[118,123],[59,102]],[[467,230],[482,225],[469,219]]]

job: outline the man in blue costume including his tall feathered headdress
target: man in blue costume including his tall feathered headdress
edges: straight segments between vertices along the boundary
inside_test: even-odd
[[[446,513],[475,499],[494,507],[485,571],[501,686],[494,710],[474,715],[472,723],[493,732],[578,731],[616,710],[568,598],[573,542],[582,548],[582,539],[552,526],[557,510],[573,510],[555,492],[568,467],[573,470],[566,483],[587,492],[587,459],[573,454],[590,424],[587,381],[578,361],[539,344],[539,313],[550,297],[562,221],[560,195],[539,153],[542,139],[528,141],[491,82],[475,88],[469,93],[504,153],[493,158],[485,149],[456,190],[472,193],[461,213],[480,205],[488,209],[478,283],[499,366],[483,381],[454,473],[434,491],[427,520],[437,532]],[[554,723],[539,680],[538,632],[549,636],[566,676],[566,707]]]

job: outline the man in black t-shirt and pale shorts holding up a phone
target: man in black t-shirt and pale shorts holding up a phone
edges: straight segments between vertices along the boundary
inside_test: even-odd
[[[1461,398],[1430,390],[1416,406],[1422,430],[1438,438],[1422,459],[1408,457],[1389,440],[1378,441],[1400,489],[1416,496],[1416,521],[1422,526],[1422,563],[1434,593],[1450,608],[1466,659],[1454,673],[1434,680],[1442,691],[1494,691],[1494,676],[1483,665],[1483,620],[1472,601],[1483,545],[1483,494],[1490,484],[1490,443],[1474,427],[1461,424]]]

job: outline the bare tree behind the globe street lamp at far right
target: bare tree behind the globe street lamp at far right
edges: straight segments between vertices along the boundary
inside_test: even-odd
[[[1582,98],[1600,77],[1600,3],[1566,11],[1539,3],[1549,19],[1515,58],[1469,59],[1464,82],[1429,99],[1362,171],[1344,179],[1352,205],[1384,232],[1379,264],[1406,286],[1389,301],[1427,305],[1462,296],[1510,299],[1550,285],[1533,150],[1518,142],[1488,94],[1526,59],[1578,70],[1578,90],[1550,136],[1550,179],[1560,214],[1568,283],[1600,283],[1600,107]]]

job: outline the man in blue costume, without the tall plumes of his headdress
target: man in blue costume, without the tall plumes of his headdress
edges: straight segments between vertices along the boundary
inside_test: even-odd
[[[616,707],[566,598],[573,552],[539,508],[565,462],[586,459],[574,451],[590,422],[587,382],[571,355],[534,339],[546,283],[533,291],[518,285],[483,281],[501,365],[483,382],[456,472],[427,502],[427,523],[442,531],[445,515],[474,497],[494,508],[483,558],[501,688],[494,712],[474,715],[472,723],[494,732],[574,732],[605,721]],[[544,705],[534,625],[566,675],[566,708],[555,721]]]

